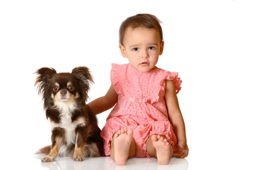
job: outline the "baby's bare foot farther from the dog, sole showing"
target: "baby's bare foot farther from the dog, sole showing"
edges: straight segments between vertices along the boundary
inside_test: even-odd
[[[151,140],[157,151],[157,162],[160,165],[169,164],[172,156],[172,145],[166,138],[160,135],[152,135]]]

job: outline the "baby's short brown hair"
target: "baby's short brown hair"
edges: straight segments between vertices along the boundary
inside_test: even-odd
[[[137,14],[126,18],[119,28],[119,45],[123,45],[125,30],[128,27],[135,29],[137,27],[153,28],[159,32],[160,40],[163,40],[163,31],[160,26],[161,21],[152,14]]]

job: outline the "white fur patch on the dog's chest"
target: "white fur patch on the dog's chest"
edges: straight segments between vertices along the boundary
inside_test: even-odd
[[[76,134],[75,130],[78,125],[85,126],[85,121],[83,118],[79,117],[75,121],[72,122],[72,112],[76,109],[76,105],[69,102],[59,102],[55,103],[55,106],[58,108],[60,112],[59,122],[51,122],[51,129],[53,130],[55,127],[60,127],[65,129],[65,139],[67,145],[76,143]]]

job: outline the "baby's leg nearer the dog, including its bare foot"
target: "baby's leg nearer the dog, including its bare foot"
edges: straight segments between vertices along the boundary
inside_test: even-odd
[[[125,165],[128,158],[134,157],[135,141],[133,130],[122,128],[112,138],[110,156],[117,165]]]

